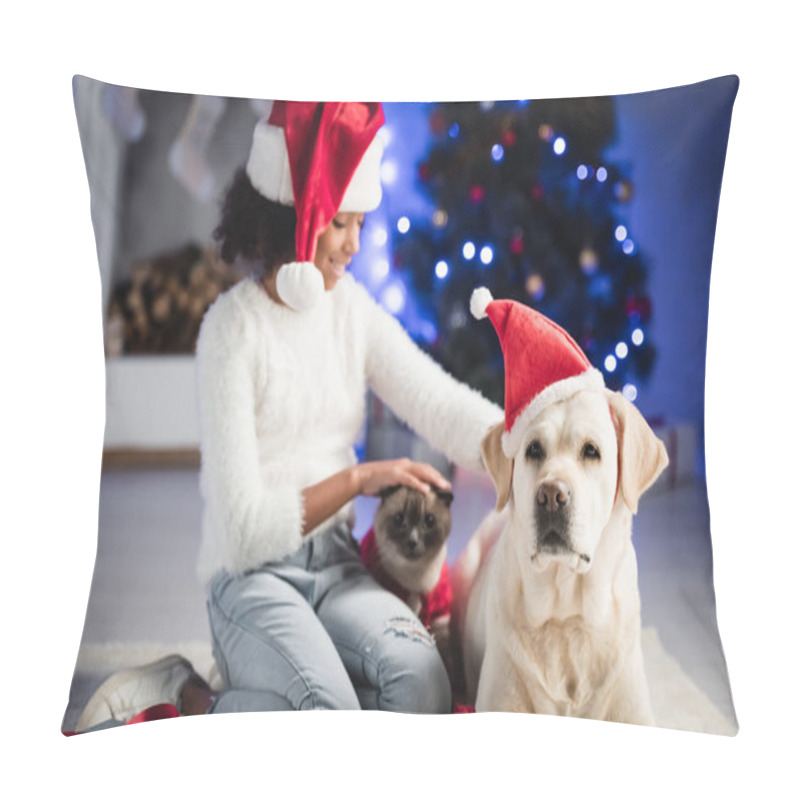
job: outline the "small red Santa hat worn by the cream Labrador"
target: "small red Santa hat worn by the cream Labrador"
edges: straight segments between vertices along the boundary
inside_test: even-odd
[[[603,376],[575,340],[538,311],[514,300],[494,300],[484,287],[472,293],[470,311],[476,319],[489,317],[503,349],[506,424],[501,443],[508,458],[547,406],[584,389],[603,389]]]

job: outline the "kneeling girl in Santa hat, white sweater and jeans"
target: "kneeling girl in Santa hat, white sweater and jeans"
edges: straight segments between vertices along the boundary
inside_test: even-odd
[[[169,657],[113,676],[79,728],[167,702],[181,713],[306,708],[447,712],[435,643],[380,588],[352,500],[398,483],[449,488],[408,459],[356,463],[371,388],[449,458],[481,470],[503,412],[456,382],[347,274],[380,202],[379,104],[276,103],[256,127],[215,231],[254,262],[197,345],[203,543],[215,695]]]

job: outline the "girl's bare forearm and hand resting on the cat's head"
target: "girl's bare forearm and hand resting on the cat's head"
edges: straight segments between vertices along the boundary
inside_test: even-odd
[[[314,530],[356,496],[376,495],[388,486],[403,484],[427,492],[430,485],[450,489],[450,483],[430,464],[401,458],[367,461],[325,478],[302,492],[303,535]]]

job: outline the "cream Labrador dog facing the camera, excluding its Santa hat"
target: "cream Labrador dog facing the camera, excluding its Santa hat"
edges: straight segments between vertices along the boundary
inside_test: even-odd
[[[513,458],[502,434],[483,442],[497,511],[453,574],[467,701],[653,724],[631,520],[663,444],[607,389],[547,406]]]

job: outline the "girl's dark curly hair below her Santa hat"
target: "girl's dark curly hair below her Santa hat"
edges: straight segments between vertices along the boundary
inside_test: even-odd
[[[271,274],[295,259],[294,206],[267,200],[253,188],[244,168],[237,170],[222,203],[222,216],[214,229],[220,256],[233,264],[237,256],[263,265]]]

